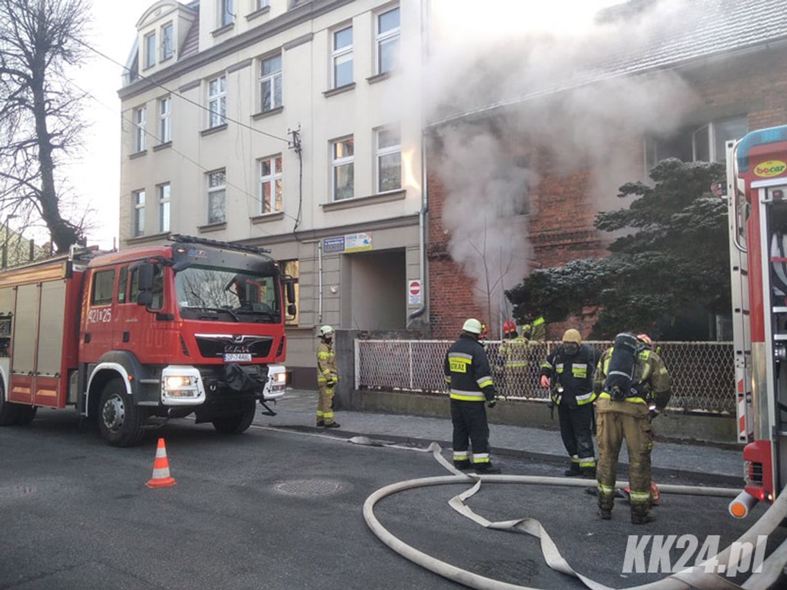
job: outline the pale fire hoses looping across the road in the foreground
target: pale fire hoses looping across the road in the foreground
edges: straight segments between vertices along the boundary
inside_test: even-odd
[[[366,437],[355,437],[350,439],[351,442],[357,444],[375,444]],[[384,446],[397,446],[397,445],[384,445]],[[600,584],[597,581],[591,580],[589,577],[583,576],[581,573],[575,571],[568,562],[560,555],[556,544],[549,537],[541,522],[534,518],[520,518],[517,520],[490,522],[482,516],[475,514],[470,507],[467,506],[465,500],[473,496],[479,489],[482,483],[504,483],[504,484],[530,484],[530,485],[560,485],[570,487],[586,487],[587,480],[583,479],[565,479],[565,478],[550,478],[543,476],[531,475],[476,475],[476,474],[463,474],[456,470],[443,456],[442,449],[436,443],[430,444],[427,449],[434,455],[438,463],[449,470],[452,475],[445,475],[442,477],[434,478],[421,478],[412,479],[408,481],[400,481],[392,485],[377,490],[372,493],[364,502],[364,520],[372,533],[382,540],[384,544],[402,555],[406,559],[417,563],[419,566],[426,568],[434,573],[438,573],[442,577],[449,580],[456,581],[464,584],[469,588],[478,588],[479,590],[537,590],[528,586],[519,586],[517,584],[508,584],[507,582],[493,580],[489,577],[480,576],[477,573],[472,573],[467,570],[462,570],[459,567],[452,566],[449,563],[435,559],[423,551],[406,544],[404,541],[393,536],[375,517],[374,509],[375,504],[386,496],[391,496],[397,492],[403,492],[408,489],[423,488],[430,485],[456,485],[463,483],[470,483],[471,488],[458,496],[454,496],[449,500],[449,505],[459,514],[470,518],[473,522],[478,523],[488,529],[508,530],[519,533],[527,533],[533,537],[541,540],[541,551],[544,554],[544,559],[547,565],[552,570],[560,571],[572,577],[577,577],[588,588],[592,590],[612,590],[609,586]],[[625,483],[618,482],[617,487],[623,487]],[[721,496],[721,497],[734,497],[738,495],[736,489],[726,488],[702,488],[699,486],[689,485],[661,485],[660,490],[663,493],[674,494],[688,494],[693,496]],[[737,539],[735,544],[737,547],[743,548],[743,554],[739,559],[750,559],[752,548],[755,546],[755,541],[759,536],[768,535],[776,529],[781,523],[782,519],[787,516],[787,490],[779,494],[778,498],[768,508],[768,510],[759,518],[757,522],[752,525],[746,533]],[[733,545],[735,545],[733,544]],[[673,573],[669,577],[665,577],[660,581],[652,582],[649,584],[642,584],[639,586],[630,587],[628,590],[688,590],[689,588],[707,588],[708,590],[719,590],[723,588],[745,588],[745,590],[764,590],[770,588],[775,581],[777,581],[781,570],[787,563],[787,541],[781,544],[763,563],[763,568],[760,573],[752,573],[748,580],[742,586],[734,584],[732,581],[720,577],[717,573],[706,571],[704,567],[708,562],[722,562],[726,563],[730,559],[730,548],[719,552],[718,555],[712,557],[706,562],[700,563],[691,568],[687,568],[678,573]],[[715,560],[715,561],[714,561]]]

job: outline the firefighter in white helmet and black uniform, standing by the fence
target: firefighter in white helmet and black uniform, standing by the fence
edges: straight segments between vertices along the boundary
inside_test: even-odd
[[[500,469],[490,461],[490,429],[484,403],[494,407],[497,400],[489,359],[478,342],[482,333],[482,323],[468,319],[459,339],[445,354],[445,382],[451,391],[453,464],[458,469],[499,474]]]

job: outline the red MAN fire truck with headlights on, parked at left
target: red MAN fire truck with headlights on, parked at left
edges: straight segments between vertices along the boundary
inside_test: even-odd
[[[275,414],[284,373],[266,386],[268,366],[284,360],[293,282],[262,249],[170,239],[0,274],[0,426],[75,406],[128,446],[162,419],[241,433],[257,400]]]

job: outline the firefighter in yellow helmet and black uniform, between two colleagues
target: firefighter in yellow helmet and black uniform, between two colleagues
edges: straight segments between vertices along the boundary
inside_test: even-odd
[[[566,330],[563,344],[547,355],[541,364],[541,387],[552,390],[557,406],[560,437],[571,459],[567,476],[596,477],[593,451],[593,371],[598,354],[582,344],[578,330]]]

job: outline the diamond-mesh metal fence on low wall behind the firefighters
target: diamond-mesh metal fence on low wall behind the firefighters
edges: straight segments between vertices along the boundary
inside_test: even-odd
[[[446,394],[443,362],[452,341],[356,340],[356,389]],[[604,351],[611,341],[586,344]],[[504,369],[500,341],[486,343],[498,393],[514,399],[543,400],[549,392],[538,370],[560,342],[530,342],[528,366]],[[660,356],[672,377],[672,411],[735,412],[735,371],[731,342],[660,342]]]

